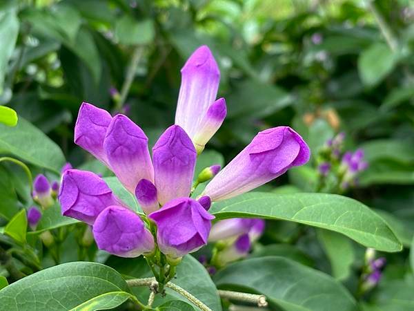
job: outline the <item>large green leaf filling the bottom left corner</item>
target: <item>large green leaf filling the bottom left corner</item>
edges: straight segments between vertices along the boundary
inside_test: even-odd
[[[93,299],[112,292],[128,292],[118,272],[100,263],[75,262],[50,267],[12,283],[0,290],[0,300],[5,310],[76,310],[91,299],[108,306],[107,299]]]

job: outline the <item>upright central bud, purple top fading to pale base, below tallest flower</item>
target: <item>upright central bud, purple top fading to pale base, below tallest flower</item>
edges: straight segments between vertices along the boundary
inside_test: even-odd
[[[152,148],[155,187],[161,205],[190,194],[197,153],[193,142],[178,125],[172,125]]]

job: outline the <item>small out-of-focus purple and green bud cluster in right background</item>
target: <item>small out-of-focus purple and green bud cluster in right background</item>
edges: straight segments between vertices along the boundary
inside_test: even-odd
[[[345,133],[339,133],[328,140],[317,156],[319,173],[318,191],[342,193],[357,185],[357,176],[368,168],[364,161],[364,150],[357,149],[354,153],[343,151]]]

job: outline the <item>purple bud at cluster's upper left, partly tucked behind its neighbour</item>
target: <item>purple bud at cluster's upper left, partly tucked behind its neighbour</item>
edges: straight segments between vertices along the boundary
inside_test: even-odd
[[[75,124],[75,144],[92,153],[108,167],[103,139],[111,120],[108,111],[83,102]]]

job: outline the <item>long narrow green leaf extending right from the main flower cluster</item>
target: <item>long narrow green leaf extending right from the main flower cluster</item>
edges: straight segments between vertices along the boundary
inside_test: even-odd
[[[339,232],[366,247],[398,252],[400,241],[385,221],[366,205],[336,194],[268,194],[250,192],[216,202],[216,220],[234,217],[268,218],[303,223]]]

